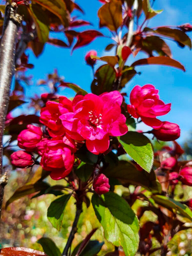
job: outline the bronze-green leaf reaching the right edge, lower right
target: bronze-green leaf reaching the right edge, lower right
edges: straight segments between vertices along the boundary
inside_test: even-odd
[[[175,201],[172,198],[161,196],[161,195],[154,195],[151,198],[155,201],[156,204],[159,204],[165,208],[168,208],[170,211],[173,209],[177,210],[183,217],[188,218],[192,221],[192,211],[188,208],[187,205],[182,204],[178,201]]]

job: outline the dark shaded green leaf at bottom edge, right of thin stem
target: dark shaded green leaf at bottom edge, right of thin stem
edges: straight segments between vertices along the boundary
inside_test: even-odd
[[[73,250],[73,253],[71,254],[71,256],[76,256],[76,253],[79,249],[79,247],[81,246],[82,242],[79,243],[75,249]],[[104,242],[99,242],[97,240],[91,240],[88,242],[88,244],[85,246],[83,252],[81,252],[79,254],[79,256],[94,256],[96,255],[98,252],[100,252],[101,247],[103,246]]]

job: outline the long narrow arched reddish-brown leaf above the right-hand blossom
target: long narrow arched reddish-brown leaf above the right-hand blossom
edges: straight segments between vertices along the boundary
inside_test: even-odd
[[[181,70],[185,71],[185,68],[183,65],[181,65],[177,60],[173,60],[169,57],[150,57],[147,59],[141,59],[135,61],[131,66],[140,66],[140,65],[149,65],[149,64],[155,64],[155,65],[165,65],[165,66],[171,66],[174,68],[180,68]]]

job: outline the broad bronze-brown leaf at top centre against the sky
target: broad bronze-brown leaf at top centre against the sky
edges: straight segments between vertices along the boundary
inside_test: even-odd
[[[100,28],[106,26],[112,31],[122,24],[122,4],[121,1],[111,0],[109,3],[103,4],[98,11],[100,18]]]

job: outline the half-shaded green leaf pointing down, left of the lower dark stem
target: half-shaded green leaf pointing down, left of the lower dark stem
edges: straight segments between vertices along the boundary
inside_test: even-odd
[[[52,226],[59,231],[63,224],[65,208],[70,197],[71,194],[60,196],[50,204],[47,210],[48,220],[51,222]]]

